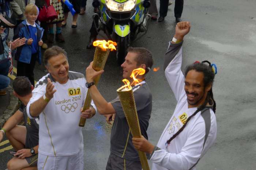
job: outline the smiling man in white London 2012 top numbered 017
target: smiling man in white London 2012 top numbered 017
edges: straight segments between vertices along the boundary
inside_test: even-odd
[[[83,170],[83,135],[80,109],[86,98],[83,74],[69,71],[67,53],[53,46],[44,53],[48,74],[35,85],[27,104],[30,118],[39,116],[38,169]],[[91,118],[92,103],[83,115]]]

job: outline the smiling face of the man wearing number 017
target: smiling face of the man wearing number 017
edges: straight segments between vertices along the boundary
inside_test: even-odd
[[[69,64],[67,58],[62,53],[51,57],[48,60],[46,69],[57,82],[60,84],[67,83]]]

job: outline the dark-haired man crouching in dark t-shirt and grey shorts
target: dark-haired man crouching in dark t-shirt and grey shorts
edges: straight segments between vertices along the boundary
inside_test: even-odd
[[[7,163],[7,168],[37,170],[39,120],[30,119],[26,112],[26,105],[34,87],[26,77],[17,77],[13,82],[13,88],[14,95],[22,101],[22,104],[0,131],[0,142],[6,134],[16,152],[12,152],[15,157]],[[25,126],[18,125],[22,120]]]

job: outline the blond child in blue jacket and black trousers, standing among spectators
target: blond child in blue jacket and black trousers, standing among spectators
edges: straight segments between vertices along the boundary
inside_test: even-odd
[[[14,40],[25,37],[25,45],[18,47],[15,54],[17,60],[17,76],[26,76],[34,86],[34,67],[37,60],[41,64],[41,46],[43,44],[42,35],[44,29],[35,23],[38,16],[38,8],[34,4],[29,4],[25,8],[26,20],[18,25],[14,33]]]

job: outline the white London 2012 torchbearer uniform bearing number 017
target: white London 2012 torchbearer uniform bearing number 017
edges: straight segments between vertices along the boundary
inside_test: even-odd
[[[86,79],[72,71],[68,72],[65,84],[56,82],[50,74],[42,77],[27,104],[30,118],[34,118],[29,112],[30,104],[46,93],[47,78],[57,91],[39,115],[38,170],[83,170],[83,135],[78,124],[87,94]],[[97,111],[93,102],[92,106]]]

